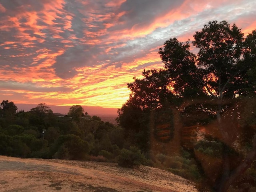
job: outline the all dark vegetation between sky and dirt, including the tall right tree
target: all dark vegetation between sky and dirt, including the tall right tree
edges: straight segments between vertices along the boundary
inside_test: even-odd
[[[0,154],[155,166],[200,191],[256,190],[256,31],[212,21],[190,42],[160,48],[164,68],[128,83],[118,126],[81,106],[58,117],[45,104],[0,108]]]

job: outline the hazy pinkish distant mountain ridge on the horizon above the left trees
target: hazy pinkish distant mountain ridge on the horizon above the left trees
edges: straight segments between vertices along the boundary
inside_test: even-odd
[[[15,104],[18,110],[30,111],[30,109],[35,108],[37,104]],[[47,104],[46,104],[47,105]],[[57,105],[47,105],[51,108],[54,113],[68,114],[71,106],[57,106]],[[90,116],[118,116],[116,108],[103,108],[95,106],[82,106],[84,112],[88,112]]]

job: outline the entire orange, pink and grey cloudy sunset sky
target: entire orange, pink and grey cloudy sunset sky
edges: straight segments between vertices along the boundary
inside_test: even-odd
[[[255,0],[0,0],[0,102],[120,108],[170,38],[212,20],[245,36]]]

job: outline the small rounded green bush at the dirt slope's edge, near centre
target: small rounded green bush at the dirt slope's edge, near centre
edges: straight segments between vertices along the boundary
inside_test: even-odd
[[[146,158],[136,147],[130,147],[129,150],[122,149],[118,156],[118,165],[127,168],[135,168],[145,164]]]

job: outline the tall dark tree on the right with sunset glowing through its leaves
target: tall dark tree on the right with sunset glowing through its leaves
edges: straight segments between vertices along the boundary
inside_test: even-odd
[[[198,145],[220,143],[216,146],[221,146],[221,168],[214,177],[208,175],[208,183],[214,190],[225,192],[256,160],[256,111],[248,108],[256,97],[256,31],[244,37],[236,24],[211,21],[193,37],[192,42],[170,38],[164,43],[158,52],[164,68],[144,70],[144,78],[134,78],[128,84],[130,98],[118,110],[117,120],[126,137],[135,138],[137,143],[136,137],[144,132],[148,149],[152,146],[151,132],[174,132],[175,138],[178,127],[203,126],[204,140],[188,150],[206,174]],[[198,52],[192,52],[191,46]],[[172,121],[163,118],[170,114]],[[154,126],[148,123],[152,118],[157,119]],[[248,144],[250,151],[246,150]]]

